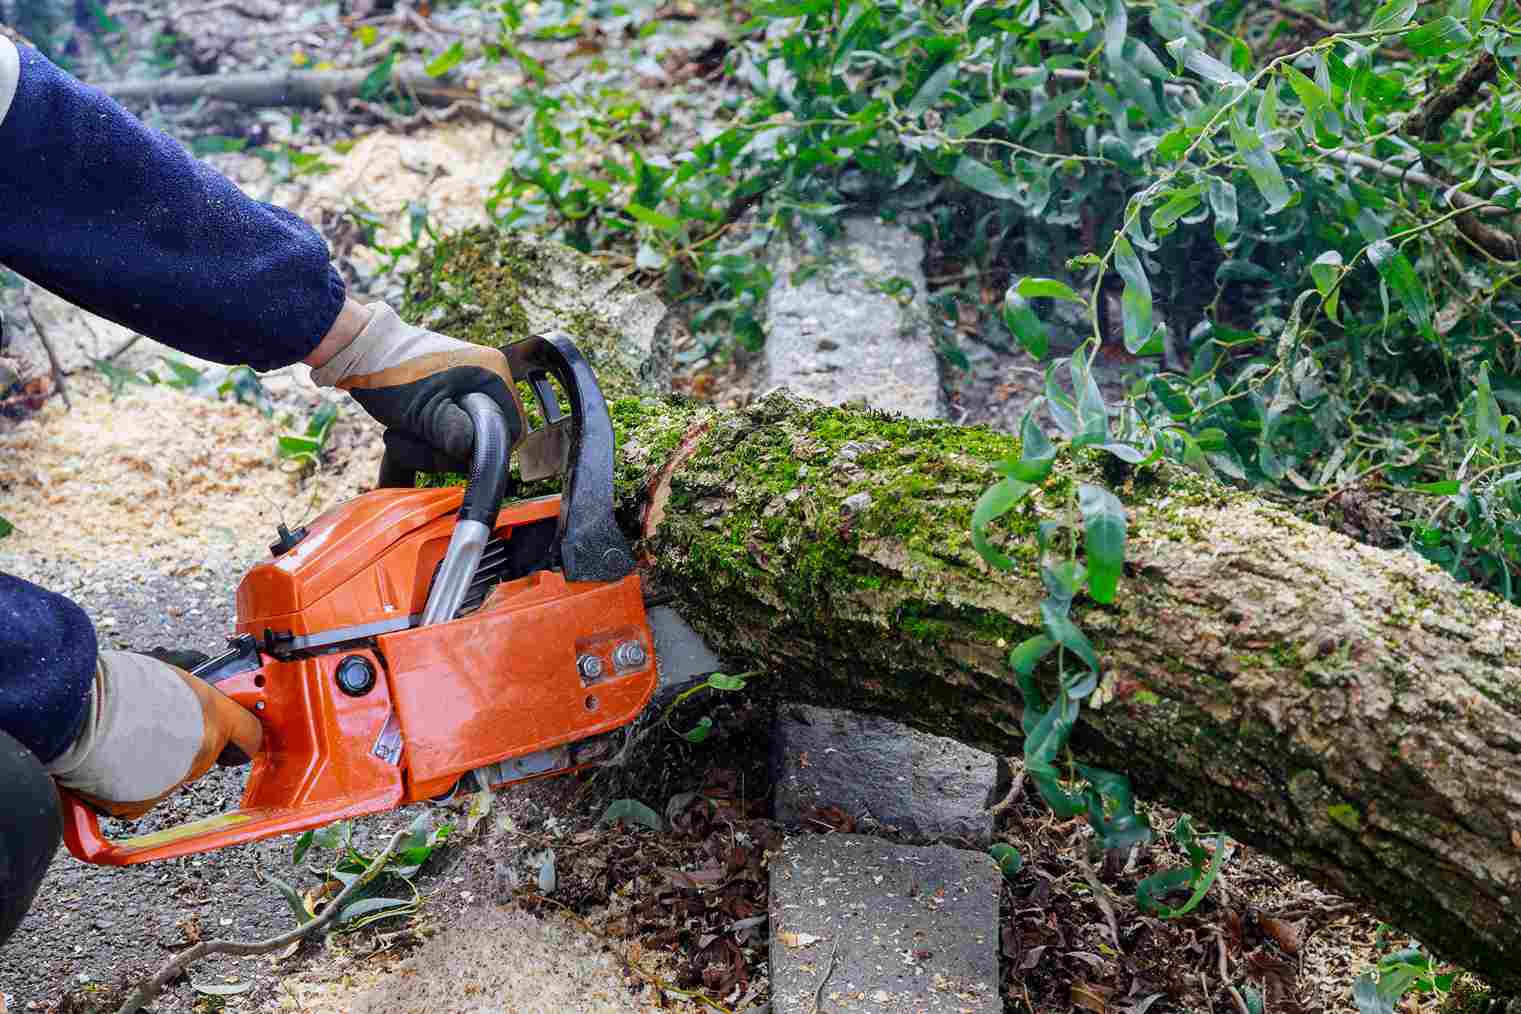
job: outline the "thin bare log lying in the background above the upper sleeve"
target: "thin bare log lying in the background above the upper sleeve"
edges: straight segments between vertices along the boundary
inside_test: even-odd
[[[192,78],[154,78],[144,81],[106,81],[94,87],[123,105],[158,102],[183,105],[199,99],[236,102],[252,106],[319,106],[327,97],[351,99],[370,78],[368,70],[277,70],[246,74],[204,74]],[[429,78],[421,67],[397,68],[391,85],[420,102],[449,105],[476,99],[476,93],[446,79]]]

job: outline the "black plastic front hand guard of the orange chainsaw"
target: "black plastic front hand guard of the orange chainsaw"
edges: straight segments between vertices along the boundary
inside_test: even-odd
[[[570,445],[560,491],[555,546],[567,581],[619,581],[634,570],[634,553],[613,515],[613,420],[592,366],[558,331],[506,347],[513,377],[528,382],[546,424],[564,426],[548,377],[570,401]]]

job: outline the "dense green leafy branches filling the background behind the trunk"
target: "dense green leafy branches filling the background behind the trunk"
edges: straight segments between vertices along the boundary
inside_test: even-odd
[[[1144,455],[1332,511],[1405,496],[1377,538],[1521,594],[1510,0],[762,2],[726,62],[741,96],[674,158],[640,144],[639,97],[517,46],[639,5],[506,11],[534,117],[494,214],[630,254],[710,348],[764,341],[777,230],[900,217],[973,278],[932,293],[946,319],[1145,357],[1116,414]],[[1418,117],[1481,61],[1450,117]]]

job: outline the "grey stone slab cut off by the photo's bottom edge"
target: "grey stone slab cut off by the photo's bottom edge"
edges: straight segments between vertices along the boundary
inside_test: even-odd
[[[998,892],[986,853],[789,838],[771,860],[771,1009],[999,1014]]]

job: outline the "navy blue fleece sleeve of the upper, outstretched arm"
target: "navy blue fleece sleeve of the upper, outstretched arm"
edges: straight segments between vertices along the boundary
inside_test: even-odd
[[[275,369],[327,334],[327,243],[21,47],[0,122],[0,265],[181,351]]]

